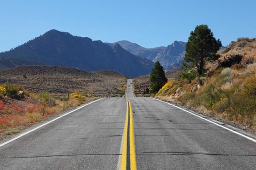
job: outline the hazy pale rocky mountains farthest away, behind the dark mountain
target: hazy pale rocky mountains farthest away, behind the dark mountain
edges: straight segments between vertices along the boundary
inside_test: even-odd
[[[161,65],[166,69],[180,68],[185,55],[186,43],[182,41],[174,41],[167,47],[155,47],[145,48],[141,47],[136,43],[129,41],[117,41],[113,44],[120,44],[126,51],[131,52],[134,55],[147,58],[153,62],[160,61]],[[109,43],[108,43],[109,44]]]

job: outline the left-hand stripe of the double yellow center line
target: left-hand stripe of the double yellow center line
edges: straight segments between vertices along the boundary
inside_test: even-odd
[[[128,99],[126,98],[126,119],[124,124],[124,139],[122,147],[122,160],[121,160],[121,170],[126,170],[126,159],[127,159],[127,128],[128,128]]]

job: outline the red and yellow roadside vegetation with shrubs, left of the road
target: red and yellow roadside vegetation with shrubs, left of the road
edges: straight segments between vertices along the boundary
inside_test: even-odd
[[[0,85],[0,138],[93,99],[79,93],[56,98],[46,91],[34,94],[21,85],[4,83]]]

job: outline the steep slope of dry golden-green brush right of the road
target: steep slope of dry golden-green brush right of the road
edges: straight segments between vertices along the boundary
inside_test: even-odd
[[[239,38],[218,54],[203,76],[188,69],[155,96],[256,132],[256,39]]]

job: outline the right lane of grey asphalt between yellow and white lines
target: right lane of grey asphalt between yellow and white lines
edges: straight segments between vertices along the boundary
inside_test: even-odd
[[[256,169],[256,143],[152,98],[132,98],[138,169]]]

